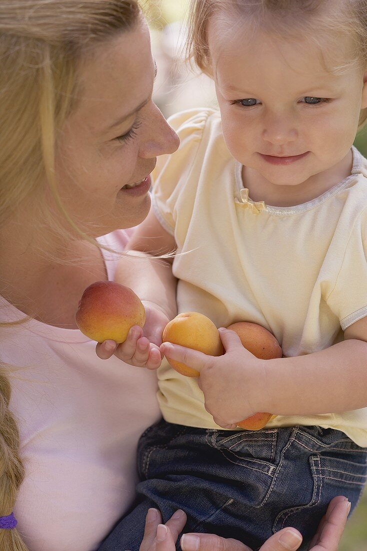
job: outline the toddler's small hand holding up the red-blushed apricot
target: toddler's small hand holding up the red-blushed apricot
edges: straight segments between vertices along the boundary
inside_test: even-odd
[[[96,353],[102,360],[107,360],[114,354],[125,363],[139,368],[159,368],[163,358],[159,347],[163,329],[169,319],[156,304],[144,300],[143,303],[146,312],[143,329],[137,325],[132,327],[126,341],[121,344],[114,341],[98,343]]]

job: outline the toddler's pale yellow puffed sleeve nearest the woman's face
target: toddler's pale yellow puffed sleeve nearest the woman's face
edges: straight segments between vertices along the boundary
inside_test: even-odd
[[[207,118],[211,109],[190,109],[173,115],[169,125],[177,132],[180,145],[172,155],[161,155],[152,174],[152,206],[163,228],[174,235],[177,222],[177,202],[190,181]],[[180,208],[185,208],[184,202]],[[189,209],[189,204],[187,204]],[[185,213],[181,212],[183,216]]]

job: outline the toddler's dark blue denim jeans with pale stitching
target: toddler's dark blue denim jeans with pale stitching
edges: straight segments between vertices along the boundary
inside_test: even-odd
[[[224,431],[162,420],[140,438],[135,507],[100,551],[138,551],[149,507],[164,522],[183,509],[184,532],[216,533],[254,550],[294,526],[304,537],[301,549],[308,549],[333,496],[357,505],[366,462],[367,449],[319,426]]]

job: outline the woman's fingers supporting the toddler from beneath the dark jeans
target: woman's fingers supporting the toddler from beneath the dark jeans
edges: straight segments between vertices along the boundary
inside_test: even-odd
[[[175,542],[186,522],[186,515],[177,511],[175,515],[178,513],[178,517],[174,518],[173,515],[166,525],[162,525],[160,513],[155,509],[150,511],[155,513],[151,518],[147,515],[140,551],[175,551]],[[309,551],[337,551],[349,511],[347,498],[341,495],[333,498],[320,521]],[[267,539],[259,551],[296,551],[301,543],[302,536],[297,530],[283,528]],[[184,534],[180,544],[183,551],[251,551],[236,539],[221,538],[215,534]]]

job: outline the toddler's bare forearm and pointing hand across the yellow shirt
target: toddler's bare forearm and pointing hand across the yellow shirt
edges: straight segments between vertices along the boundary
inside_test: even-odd
[[[367,318],[330,348],[275,360],[255,358],[232,331],[220,333],[226,354],[218,358],[166,343],[161,350],[200,371],[205,407],[221,426],[256,412],[313,415],[367,406]]]

